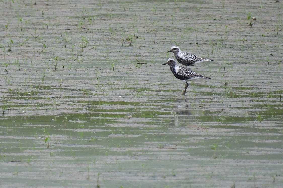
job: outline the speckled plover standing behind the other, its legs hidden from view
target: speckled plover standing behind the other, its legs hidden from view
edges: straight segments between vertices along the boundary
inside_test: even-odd
[[[180,50],[178,46],[172,46],[171,50],[169,50],[168,52],[173,52],[177,61],[185,66],[194,66],[194,65],[198,65],[199,63],[203,63],[205,61],[213,61],[212,59],[205,59],[198,57],[195,54],[183,52]]]

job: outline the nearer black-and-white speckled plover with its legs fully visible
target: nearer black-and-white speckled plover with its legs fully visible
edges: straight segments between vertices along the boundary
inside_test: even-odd
[[[201,76],[200,74],[197,74],[194,71],[192,71],[190,68],[184,67],[182,65],[177,65],[176,63],[177,62],[175,61],[174,58],[169,58],[167,62],[163,63],[162,65],[169,65],[171,72],[176,78],[186,81],[185,90],[182,95],[186,95],[186,90],[189,86],[187,82],[188,80],[195,80],[199,78],[211,79],[205,76]]]

